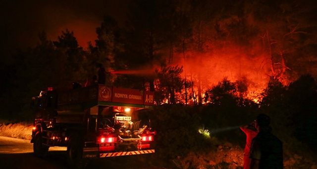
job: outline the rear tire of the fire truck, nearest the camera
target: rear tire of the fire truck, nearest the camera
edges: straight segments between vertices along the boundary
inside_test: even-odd
[[[68,165],[71,169],[85,169],[88,160],[82,158],[83,145],[79,137],[71,137],[67,145]]]

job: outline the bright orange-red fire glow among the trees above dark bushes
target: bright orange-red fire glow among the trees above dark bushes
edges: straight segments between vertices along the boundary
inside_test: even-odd
[[[249,51],[235,44],[219,49],[215,47],[204,53],[187,51],[185,60],[183,54],[175,54],[173,60],[177,61],[171,65],[183,66],[182,77],[194,82],[193,87],[187,90],[188,101],[198,101],[199,89],[204,98],[204,92],[224,78],[230,82],[243,81],[247,85],[244,97],[251,100],[258,97],[270,79],[271,62],[257,45],[253,44],[255,48]]]

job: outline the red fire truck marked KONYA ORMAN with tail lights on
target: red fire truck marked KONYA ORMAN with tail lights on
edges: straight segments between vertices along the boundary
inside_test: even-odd
[[[85,159],[155,153],[154,92],[93,85],[48,88],[32,98],[34,155],[67,147],[70,165]]]

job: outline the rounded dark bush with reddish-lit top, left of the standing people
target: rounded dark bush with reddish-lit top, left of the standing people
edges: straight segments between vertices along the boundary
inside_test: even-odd
[[[243,142],[237,141],[243,140],[237,138],[244,137],[237,128],[254,120],[259,105],[239,97],[241,86],[245,84],[241,81],[233,83],[225,78],[208,90],[205,95],[208,104],[203,107],[201,117],[213,136],[243,145]]]

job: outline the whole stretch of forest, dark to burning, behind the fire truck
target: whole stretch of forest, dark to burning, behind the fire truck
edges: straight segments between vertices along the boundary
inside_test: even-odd
[[[259,101],[270,80],[317,77],[315,3],[133,0],[125,26],[105,15],[86,49],[72,30],[56,41],[44,31],[36,47],[1,61],[1,103],[20,113],[39,91],[84,86],[101,66],[105,84],[156,91],[158,104],[202,104],[224,79],[239,97]]]

